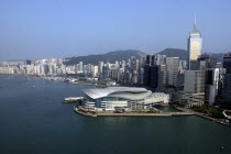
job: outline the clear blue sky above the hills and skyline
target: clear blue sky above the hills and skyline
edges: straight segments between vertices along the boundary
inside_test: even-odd
[[[0,61],[187,48],[231,52],[231,0],[0,0]]]

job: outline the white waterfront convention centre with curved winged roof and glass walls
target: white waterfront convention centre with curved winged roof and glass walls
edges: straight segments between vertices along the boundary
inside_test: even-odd
[[[109,87],[86,89],[84,92],[86,95],[85,108],[97,111],[113,111],[117,108],[131,111],[169,102],[169,95],[153,94],[145,88]]]

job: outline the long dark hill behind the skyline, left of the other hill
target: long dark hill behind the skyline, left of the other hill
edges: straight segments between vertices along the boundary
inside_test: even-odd
[[[74,65],[82,62],[84,64],[94,64],[98,65],[100,61],[107,63],[114,63],[116,61],[128,61],[131,56],[140,58],[145,55],[145,53],[135,50],[124,50],[124,51],[114,51],[101,55],[88,55],[88,56],[78,56],[78,57],[68,57],[66,58],[65,65]]]

